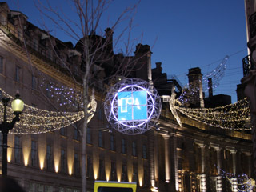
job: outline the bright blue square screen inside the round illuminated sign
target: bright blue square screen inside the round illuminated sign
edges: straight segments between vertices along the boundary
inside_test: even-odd
[[[118,121],[147,119],[146,97],[146,90],[118,92]]]

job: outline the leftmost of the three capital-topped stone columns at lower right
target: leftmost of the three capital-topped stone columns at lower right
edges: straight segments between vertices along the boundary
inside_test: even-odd
[[[200,178],[200,191],[206,192],[207,186],[206,186],[206,162],[205,162],[205,148],[206,144],[202,141],[195,140],[194,141],[201,149],[201,167],[202,167],[202,174],[199,175]]]

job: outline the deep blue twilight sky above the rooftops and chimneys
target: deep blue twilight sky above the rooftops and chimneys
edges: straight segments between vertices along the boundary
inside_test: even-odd
[[[74,11],[66,0],[50,2],[56,7],[62,5],[69,17],[75,20]],[[101,29],[110,26],[126,6],[135,2],[114,0],[103,14]],[[42,15],[34,7],[34,0],[7,0],[7,3],[11,10],[21,11],[28,16],[30,22],[42,28]],[[74,42],[47,20],[46,25],[63,42]],[[122,26],[118,26],[114,38],[121,30]],[[207,74],[218,66],[222,58],[229,55],[225,76],[214,94],[230,94],[232,102],[237,101],[236,85],[242,78],[242,58],[247,55],[244,1],[141,0],[134,16],[131,38],[135,39],[134,46],[138,42],[151,46],[152,68],[155,62],[162,62],[163,72],[175,74],[183,86],[187,83],[189,68],[198,66],[202,74]],[[122,47],[122,44],[119,46]]]

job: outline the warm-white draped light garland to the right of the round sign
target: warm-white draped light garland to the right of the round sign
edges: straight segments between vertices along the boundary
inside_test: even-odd
[[[180,113],[198,122],[229,130],[250,130],[250,109],[247,99],[216,108],[185,108],[173,106]]]

